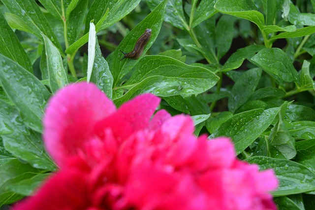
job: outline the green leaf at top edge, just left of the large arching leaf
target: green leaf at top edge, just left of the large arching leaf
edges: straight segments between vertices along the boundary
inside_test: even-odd
[[[216,9],[214,8],[215,3],[217,0],[201,0],[196,11],[193,15],[193,22],[192,28],[199,25],[202,21],[207,20],[208,18],[212,17],[217,13]]]

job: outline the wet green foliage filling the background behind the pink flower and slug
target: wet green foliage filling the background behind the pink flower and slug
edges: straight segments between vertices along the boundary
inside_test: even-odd
[[[1,2],[0,208],[57,169],[41,119],[58,89],[86,80],[93,20],[91,81],[117,106],[154,93],[192,115],[195,135],[231,137],[240,159],[274,169],[279,209],[314,209],[315,0]],[[142,56],[120,61],[148,28]]]

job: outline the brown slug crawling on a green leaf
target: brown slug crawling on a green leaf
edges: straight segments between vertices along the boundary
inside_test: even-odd
[[[152,30],[151,29],[146,29],[146,31],[143,33],[143,35],[141,35],[137,42],[136,45],[134,46],[133,50],[129,53],[125,53],[121,50],[121,51],[125,57],[124,58],[130,58],[130,59],[137,59],[141,56],[144,47],[147,45],[147,43],[149,42],[150,38],[151,38],[151,34],[152,34]],[[124,58],[122,58],[121,60],[123,60]]]

